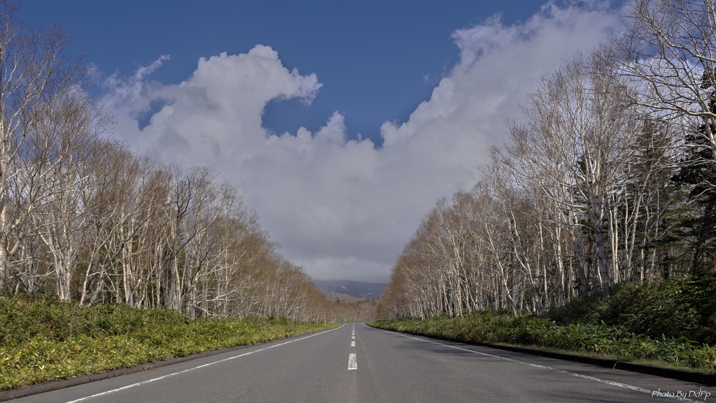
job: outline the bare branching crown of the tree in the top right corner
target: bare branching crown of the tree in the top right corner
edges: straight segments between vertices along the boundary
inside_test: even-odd
[[[615,71],[639,85],[632,102],[699,133],[716,163],[716,11],[712,0],[636,0],[611,39]],[[695,124],[694,120],[697,121]],[[716,186],[712,183],[711,186]]]

